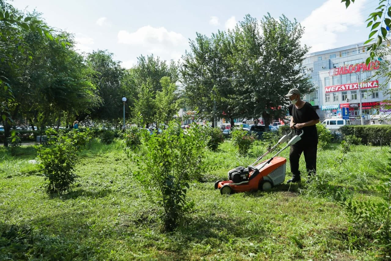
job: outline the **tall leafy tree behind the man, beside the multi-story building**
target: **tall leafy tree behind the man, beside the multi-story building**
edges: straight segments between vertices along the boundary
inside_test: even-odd
[[[288,107],[284,95],[297,87],[312,90],[310,79],[301,74],[301,62],[308,52],[301,46],[303,28],[282,15],[279,20],[264,16],[260,21],[247,15],[231,32],[235,43],[232,66],[238,78],[237,108],[242,116],[262,116],[265,125],[282,117]]]

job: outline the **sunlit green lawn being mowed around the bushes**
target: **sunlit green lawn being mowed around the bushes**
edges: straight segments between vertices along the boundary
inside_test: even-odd
[[[387,147],[352,147],[339,165],[339,145],[318,152],[318,176],[358,189],[357,199],[376,201],[365,189],[386,172]],[[80,154],[72,191],[48,195],[32,146],[11,156],[0,148],[0,259],[36,260],[372,260],[378,249],[369,231],[357,230],[345,211],[314,186],[279,185],[271,192],[222,196],[216,179],[246,166],[265,148],[238,156],[230,141],[210,152],[208,182],[194,182],[195,207],[174,232],[162,232],[159,208],[128,174],[132,163],[119,142],[91,144]],[[282,153],[288,156],[288,149]],[[300,164],[305,172],[303,159]],[[151,170],[153,171],[153,170]],[[287,177],[289,179],[289,163]],[[305,180],[305,179],[304,179]]]

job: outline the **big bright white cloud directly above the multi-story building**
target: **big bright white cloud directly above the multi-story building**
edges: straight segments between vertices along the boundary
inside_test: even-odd
[[[301,43],[312,47],[310,52],[336,47],[335,43],[339,33],[344,33],[349,27],[364,23],[365,17],[362,10],[365,2],[366,0],[355,1],[346,9],[340,1],[328,0],[301,22],[301,25],[305,27]]]

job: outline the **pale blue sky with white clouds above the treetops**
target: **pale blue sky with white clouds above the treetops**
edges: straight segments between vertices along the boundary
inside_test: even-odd
[[[364,23],[378,0],[14,0],[22,11],[36,10],[50,27],[73,33],[79,53],[108,50],[130,68],[137,57],[154,54],[179,60],[196,33],[210,36],[235,27],[246,14],[270,13],[296,19],[305,27],[301,40],[310,53],[368,39]]]

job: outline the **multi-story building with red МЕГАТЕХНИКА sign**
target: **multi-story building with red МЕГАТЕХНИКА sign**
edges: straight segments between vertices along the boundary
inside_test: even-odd
[[[385,79],[373,78],[385,57],[366,65],[368,56],[363,42],[308,54],[303,61],[303,73],[312,78],[317,90],[302,99],[311,103],[321,119],[337,116],[339,109],[349,107],[353,122],[361,120],[361,102],[362,116],[369,120],[379,113],[380,102],[388,97],[377,88]]]

